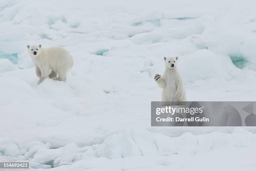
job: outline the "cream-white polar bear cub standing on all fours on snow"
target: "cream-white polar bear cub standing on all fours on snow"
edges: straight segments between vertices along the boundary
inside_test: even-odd
[[[41,48],[42,45],[27,45],[36,68],[36,75],[40,78],[38,84],[46,78],[66,81],[67,72],[73,66],[73,58],[64,48]],[[51,72],[50,72],[51,70]]]

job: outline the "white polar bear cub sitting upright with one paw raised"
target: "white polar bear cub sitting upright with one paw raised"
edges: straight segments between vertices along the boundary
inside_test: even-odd
[[[156,74],[154,79],[163,89],[162,102],[187,101],[182,78],[177,70],[178,57],[164,57],[165,71],[163,76]]]

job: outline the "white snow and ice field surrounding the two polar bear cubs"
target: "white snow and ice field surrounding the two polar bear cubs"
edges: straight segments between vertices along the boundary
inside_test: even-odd
[[[0,161],[29,161],[31,171],[253,171],[254,127],[151,127],[150,104],[170,55],[189,101],[255,101],[255,7],[0,0]],[[28,44],[69,50],[67,82],[37,85]]]

